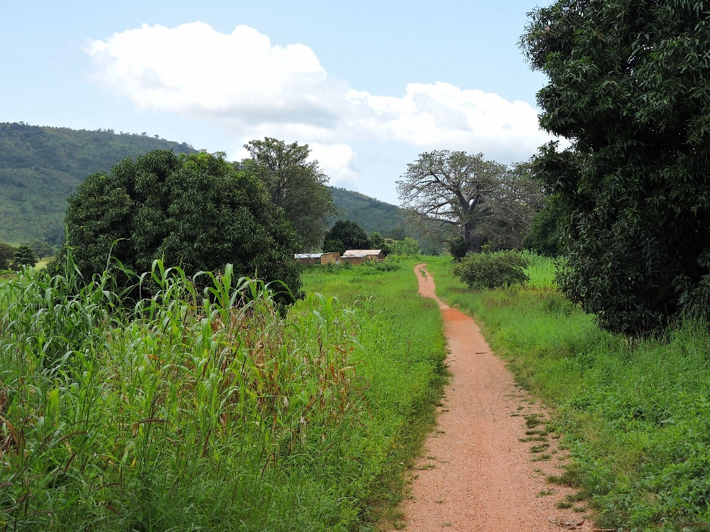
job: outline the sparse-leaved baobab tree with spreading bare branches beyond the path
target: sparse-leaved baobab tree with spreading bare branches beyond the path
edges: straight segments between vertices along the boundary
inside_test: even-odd
[[[541,199],[527,163],[501,165],[482,153],[448,150],[422,153],[397,192],[410,221],[439,240],[463,238],[474,253],[484,243],[520,247]]]

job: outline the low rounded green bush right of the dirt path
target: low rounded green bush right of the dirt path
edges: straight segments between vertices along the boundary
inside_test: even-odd
[[[529,262],[515,251],[469,253],[454,265],[454,275],[472,289],[509,287],[511,284],[528,282],[528,276],[523,270]]]

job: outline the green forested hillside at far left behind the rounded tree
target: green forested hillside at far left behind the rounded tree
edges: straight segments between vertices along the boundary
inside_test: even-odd
[[[148,136],[0,123],[0,242],[58,243],[66,197],[89,174],[151,150],[197,152]]]

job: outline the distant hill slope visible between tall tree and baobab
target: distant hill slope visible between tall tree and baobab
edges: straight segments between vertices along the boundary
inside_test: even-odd
[[[346,218],[354,221],[367,233],[377,231],[385,235],[402,221],[403,215],[396,205],[385,203],[359,192],[329,187],[333,202],[343,214],[333,221]]]

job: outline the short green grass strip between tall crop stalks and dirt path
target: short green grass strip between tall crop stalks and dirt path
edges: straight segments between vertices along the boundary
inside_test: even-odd
[[[342,304],[372,311],[359,335],[373,360],[367,399],[379,452],[363,497],[371,523],[400,518],[396,505],[405,471],[435,423],[435,405],[447,381],[441,314],[434,301],[418,294],[417,262],[314,267],[303,275],[306,292],[337,296]]]

